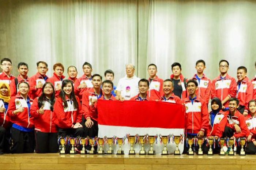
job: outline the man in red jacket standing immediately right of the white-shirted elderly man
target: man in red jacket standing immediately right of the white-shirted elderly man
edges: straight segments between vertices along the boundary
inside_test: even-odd
[[[157,76],[157,66],[155,64],[149,64],[147,67],[149,74],[149,90],[148,97],[152,100],[159,100],[163,95],[163,79]]]

